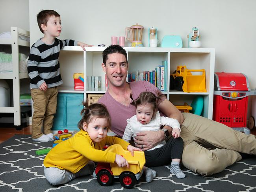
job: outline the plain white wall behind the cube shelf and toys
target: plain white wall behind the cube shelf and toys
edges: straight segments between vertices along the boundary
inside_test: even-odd
[[[192,27],[200,30],[202,47],[215,48],[216,72],[243,72],[256,87],[255,0],[29,0],[31,42],[42,37],[36,15],[54,9],[61,15],[61,39],[98,45],[111,43],[111,36],[124,36],[124,28],[136,23],[158,28],[158,39],[180,35],[187,47]],[[126,41],[126,46],[130,42]]]

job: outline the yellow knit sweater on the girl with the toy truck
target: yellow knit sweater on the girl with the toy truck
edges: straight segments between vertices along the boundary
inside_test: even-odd
[[[89,161],[113,163],[116,153],[102,151],[105,144],[109,146],[120,144],[125,150],[129,145],[121,138],[110,136],[94,145],[87,132],[79,131],[73,137],[52,148],[45,157],[44,166],[58,167],[76,173]]]

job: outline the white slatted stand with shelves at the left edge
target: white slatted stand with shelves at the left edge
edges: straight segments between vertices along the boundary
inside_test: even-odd
[[[14,113],[14,125],[20,126],[20,79],[28,78],[27,73],[19,72],[19,46],[30,47],[30,42],[19,39],[20,35],[30,36],[30,32],[17,27],[11,27],[11,38],[0,39],[0,45],[10,45],[12,53],[13,72],[0,73],[0,79],[13,80],[13,107],[0,107],[0,113]]]

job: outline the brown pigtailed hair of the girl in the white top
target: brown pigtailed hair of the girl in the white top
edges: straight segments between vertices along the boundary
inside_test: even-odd
[[[132,93],[130,94],[130,97],[132,99]],[[139,97],[135,100],[132,101],[131,105],[134,105],[136,108],[138,105],[145,105],[147,103],[152,104],[152,109],[153,109],[153,116],[155,114],[155,112],[158,110],[157,108],[157,103],[159,100],[161,100],[161,98],[165,97],[164,94],[162,94],[161,92],[157,93],[157,96],[152,93],[152,92],[141,92],[141,94],[139,94]]]

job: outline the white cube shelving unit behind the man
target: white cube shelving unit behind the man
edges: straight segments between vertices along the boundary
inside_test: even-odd
[[[61,76],[63,87],[59,92],[82,92],[84,98],[87,94],[104,94],[105,74],[102,70],[102,52],[106,47],[87,47],[83,51],[78,46],[66,46],[60,55]],[[150,48],[150,47],[124,47],[128,55],[129,73],[154,70],[154,67],[161,65],[161,61],[168,61],[168,85],[170,73],[176,70],[178,65],[186,65],[188,69],[206,70],[206,92],[183,92],[167,90],[163,93],[174,105],[183,105],[184,102],[191,104],[197,95],[204,97],[204,109],[202,116],[212,119],[213,111],[213,84],[214,84],[214,48]],[[78,58],[79,57],[79,58]],[[83,91],[74,90],[73,73],[84,72],[85,76],[101,76],[102,88],[98,90],[86,89]]]

